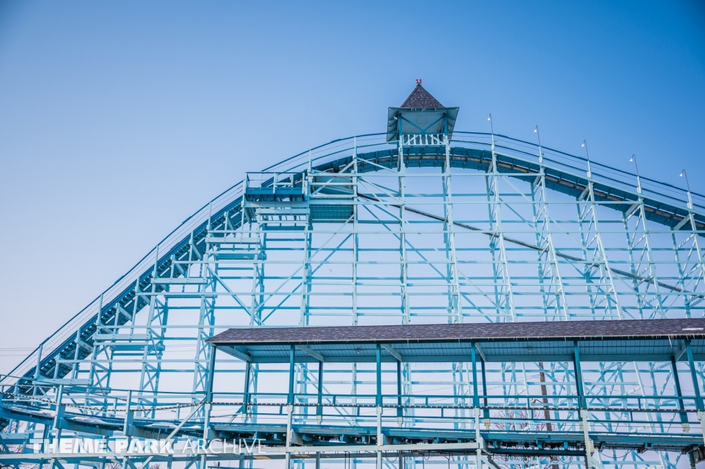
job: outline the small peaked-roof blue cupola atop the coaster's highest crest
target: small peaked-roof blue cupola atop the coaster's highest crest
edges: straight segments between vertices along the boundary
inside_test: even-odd
[[[403,135],[450,135],[458,118],[458,107],[445,107],[416,80],[416,87],[400,107],[389,108],[387,141]],[[427,141],[427,139],[423,139]]]

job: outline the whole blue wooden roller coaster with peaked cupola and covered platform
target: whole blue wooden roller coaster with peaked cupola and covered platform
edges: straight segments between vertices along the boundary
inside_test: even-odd
[[[0,461],[694,466],[705,196],[457,116],[417,83],[386,133],[247,173],[3,377]],[[471,346],[353,340],[441,324]],[[497,346],[479,324],[518,332]],[[291,339],[323,326],[353,337],[344,359]],[[599,327],[623,343],[595,353]],[[231,446],[144,452],[199,438]]]

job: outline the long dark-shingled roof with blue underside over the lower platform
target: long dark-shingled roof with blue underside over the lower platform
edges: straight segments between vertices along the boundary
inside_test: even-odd
[[[577,343],[582,361],[705,360],[705,319],[412,324],[228,329],[207,342],[252,363],[295,361],[467,362],[472,348],[487,362],[564,362]]]

